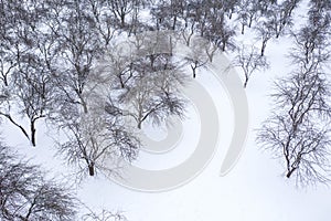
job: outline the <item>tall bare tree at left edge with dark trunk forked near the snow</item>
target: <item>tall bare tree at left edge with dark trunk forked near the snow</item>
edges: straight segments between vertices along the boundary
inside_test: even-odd
[[[52,97],[51,63],[54,59],[54,38],[47,34],[46,29],[39,27],[46,9],[38,2],[26,4],[8,3],[12,13],[17,13],[14,22],[8,22],[11,32],[7,39],[4,56],[1,60],[1,76],[3,93],[7,101],[2,101],[0,115],[20,128],[24,136],[35,146],[35,123],[44,118],[50,110],[49,103]],[[2,2],[2,7],[3,2]],[[13,113],[13,109],[18,109]],[[28,118],[29,129],[21,125],[14,115]]]

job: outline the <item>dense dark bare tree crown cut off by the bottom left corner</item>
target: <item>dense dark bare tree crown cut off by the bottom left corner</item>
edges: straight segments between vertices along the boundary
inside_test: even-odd
[[[38,166],[0,145],[0,219],[74,220],[76,200],[62,183],[46,180]]]

